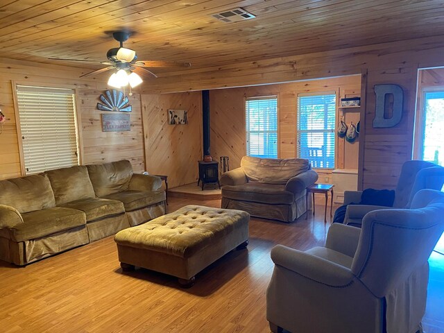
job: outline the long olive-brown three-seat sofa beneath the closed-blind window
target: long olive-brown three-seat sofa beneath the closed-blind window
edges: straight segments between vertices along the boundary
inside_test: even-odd
[[[127,160],[1,180],[0,259],[25,265],[161,216],[161,186]]]

